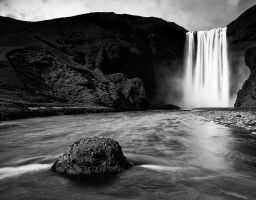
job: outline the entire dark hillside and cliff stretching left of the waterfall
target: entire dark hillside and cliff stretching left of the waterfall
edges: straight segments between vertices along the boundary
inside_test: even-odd
[[[165,102],[167,90],[178,97],[174,82],[164,78],[182,72],[186,30],[174,23],[91,13],[33,23],[0,17],[0,27],[0,100],[5,105],[22,101],[137,110]],[[160,96],[162,85],[165,95]]]

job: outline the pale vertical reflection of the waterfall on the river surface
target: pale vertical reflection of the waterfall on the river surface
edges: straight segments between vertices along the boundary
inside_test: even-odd
[[[229,146],[233,143],[230,129],[199,123],[194,122],[195,127],[191,130],[192,160],[203,168],[230,171],[232,163],[227,160]]]

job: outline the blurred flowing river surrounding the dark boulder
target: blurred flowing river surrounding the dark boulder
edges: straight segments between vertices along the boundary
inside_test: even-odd
[[[50,171],[81,137],[117,140],[137,165],[77,181]],[[0,199],[256,199],[256,136],[196,111],[104,113],[0,123]]]

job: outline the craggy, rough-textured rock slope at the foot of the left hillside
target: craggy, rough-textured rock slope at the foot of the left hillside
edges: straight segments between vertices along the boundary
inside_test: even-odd
[[[21,89],[37,97],[37,102],[40,98],[41,102],[98,104],[120,110],[141,109],[145,104],[145,90],[138,78],[123,76],[115,82],[100,71],[76,68],[45,49],[16,49],[7,58],[20,78]]]

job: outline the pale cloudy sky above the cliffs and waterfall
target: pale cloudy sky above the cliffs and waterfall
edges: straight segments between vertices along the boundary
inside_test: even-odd
[[[188,30],[208,30],[226,26],[255,4],[256,0],[0,0],[0,15],[39,21],[111,11],[160,17]]]

